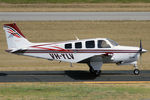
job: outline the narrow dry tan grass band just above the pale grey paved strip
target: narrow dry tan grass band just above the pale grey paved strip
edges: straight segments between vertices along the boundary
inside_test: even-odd
[[[22,1],[22,0],[20,0]],[[150,11],[150,3],[34,3],[34,4],[8,4],[0,3],[1,12],[125,12]]]

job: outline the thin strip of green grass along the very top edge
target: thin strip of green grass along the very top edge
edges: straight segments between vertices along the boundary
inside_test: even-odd
[[[149,3],[149,0],[0,0],[2,3]]]

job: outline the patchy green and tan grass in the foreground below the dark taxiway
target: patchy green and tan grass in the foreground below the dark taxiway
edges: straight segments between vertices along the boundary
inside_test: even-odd
[[[147,100],[148,84],[1,84],[2,100]],[[9,94],[9,95],[8,95]]]

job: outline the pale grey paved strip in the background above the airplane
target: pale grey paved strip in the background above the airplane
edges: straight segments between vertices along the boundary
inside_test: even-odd
[[[0,21],[150,20],[150,12],[0,12]]]

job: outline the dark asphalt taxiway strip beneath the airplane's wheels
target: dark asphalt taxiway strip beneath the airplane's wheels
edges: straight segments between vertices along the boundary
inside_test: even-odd
[[[100,81],[150,81],[150,70],[140,75],[133,71],[102,71],[99,77],[88,71],[1,71],[0,82],[100,82]]]

